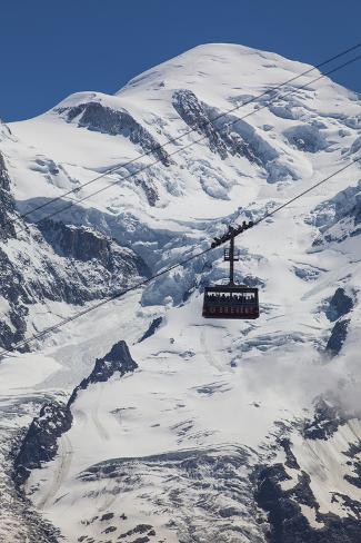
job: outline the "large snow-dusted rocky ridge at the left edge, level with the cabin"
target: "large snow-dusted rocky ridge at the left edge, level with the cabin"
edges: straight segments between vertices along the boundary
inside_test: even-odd
[[[6,348],[23,339],[29,306],[47,300],[83,305],[150,275],[134,251],[94,229],[47,219],[39,230],[11,259],[0,248],[0,296],[9,306],[0,318]]]

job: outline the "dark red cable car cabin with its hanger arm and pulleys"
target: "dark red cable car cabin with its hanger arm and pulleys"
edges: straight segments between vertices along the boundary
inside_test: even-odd
[[[243,224],[243,229],[247,227]],[[230,282],[228,285],[215,285],[204,288],[203,310],[205,318],[241,318],[250,319],[260,316],[258,288],[237,285],[234,283],[234,261],[239,260],[239,251],[234,254],[235,230],[230,227],[229,233],[221,239],[215,239],[213,247],[230,239],[230,247],[224,249],[224,261],[230,263]]]

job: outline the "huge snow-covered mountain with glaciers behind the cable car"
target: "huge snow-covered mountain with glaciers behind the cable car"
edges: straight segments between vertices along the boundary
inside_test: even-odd
[[[308,68],[201,46],[0,125],[1,346],[358,158],[357,93],[314,70],[264,95]],[[258,320],[202,319],[215,249],[3,357],[1,541],[361,541],[360,180],[238,238]]]

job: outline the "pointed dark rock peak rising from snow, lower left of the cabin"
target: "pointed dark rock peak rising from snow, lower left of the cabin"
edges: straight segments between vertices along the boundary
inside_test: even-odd
[[[94,368],[89,377],[86,377],[80,385],[74,388],[68,402],[68,406],[71,406],[76,401],[79,391],[84,391],[89,385],[94,383],[104,383],[116,373],[123,376],[126,373],[133,372],[137,367],[138,364],[132,359],[127,343],[123,340],[116,343],[110,353],[103,358],[97,358]]]

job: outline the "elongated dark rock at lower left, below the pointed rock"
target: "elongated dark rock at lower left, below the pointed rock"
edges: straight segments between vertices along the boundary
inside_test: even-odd
[[[14,481],[23,484],[30,471],[51,461],[58,452],[57,440],[71,427],[72,415],[67,405],[44,404],[36,417],[14,461]]]

